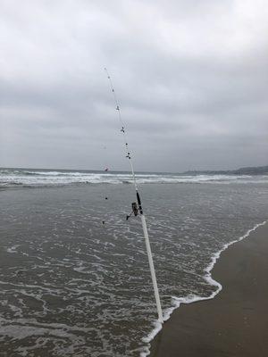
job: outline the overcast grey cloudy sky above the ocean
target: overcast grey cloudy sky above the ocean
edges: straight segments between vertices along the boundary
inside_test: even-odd
[[[0,166],[268,163],[265,0],[0,0]]]

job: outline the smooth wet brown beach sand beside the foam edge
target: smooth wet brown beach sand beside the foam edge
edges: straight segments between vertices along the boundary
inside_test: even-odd
[[[181,304],[150,357],[268,356],[268,224],[222,252],[212,277],[222,291]]]

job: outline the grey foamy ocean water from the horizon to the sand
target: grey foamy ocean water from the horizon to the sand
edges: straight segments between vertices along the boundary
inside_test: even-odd
[[[137,179],[168,319],[222,288],[214,262],[267,220],[268,176]],[[161,327],[141,223],[126,220],[130,182],[127,172],[0,169],[1,355],[149,353]]]

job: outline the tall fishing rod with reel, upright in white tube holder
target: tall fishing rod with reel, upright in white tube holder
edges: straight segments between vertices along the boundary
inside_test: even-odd
[[[129,215],[127,215],[127,220],[130,219],[130,216],[131,216],[132,213],[134,214],[134,216],[138,216],[138,214],[140,216],[142,229],[143,229],[143,234],[144,234],[146,247],[147,247],[147,256],[148,256],[148,262],[149,262],[149,267],[150,267],[150,271],[151,271],[151,278],[152,278],[152,282],[153,282],[153,286],[154,286],[155,303],[156,303],[156,309],[157,309],[157,313],[158,313],[158,320],[161,323],[163,323],[163,311],[162,311],[162,306],[161,306],[161,301],[160,301],[160,296],[159,296],[159,291],[158,291],[158,286],[157,286],[157,281],[156,281],[156,276],[155,276],[155,265],[154,265],[154,261],[153,261],[153,255],[152,255],[152,251],[151,251],[151,245],[150,245],[150,240],[149,240],[149,235],[148,235],[148,230],[147,230],[147,221],[146,221],[143,209],[142,209],[140,195],[138,193],[138,184],[137,184],[137,179],[136,179],[136,176],[135,176],[135,171],[134,171],[134,168],[133,168],[133,164],[132,164],[132,161],[131,161],[131,155],[130,155],[130,149],[129,149],[129,144],[128,144],[127,135],[126,135],[126,129],[125,129],[123,120],[121,118],[120,105],[119,105],[117,96],[115,94],[115,90],[114,90],[114,87],[113,87],[113,82],[112,82],[111,76],[110,76],[110,74],[109,74],[109,72],[107,71],[106,68],[105,68],[105,72],[107,74],[107,78],[109,80],[110,87],[111,87],[111,90],[112,90],[112,93],[113,93],[115,109],[118,112],[118,118],[119,118],[120,124],[121,124],[121,130],[120,131],[121,131],[121,133],[123,134],[123,137],[124,137],[124,143],[125,143],[125,149],[126,149],[126,158],[130,162],[131,175],[132,175],[133,184],[134,184],[134,187],[135,187],[135,190],[136,190],[137,202],[131,203],[131,212],[130,212]]]

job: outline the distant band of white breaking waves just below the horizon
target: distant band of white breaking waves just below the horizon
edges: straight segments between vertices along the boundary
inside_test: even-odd
[[[268,175],[183,175],[138,173],[138,184],[254,184],[268,183]],[[0,187],[47,187],[88,184],[130,184],[127,172],[64,170],[0,170]]]

